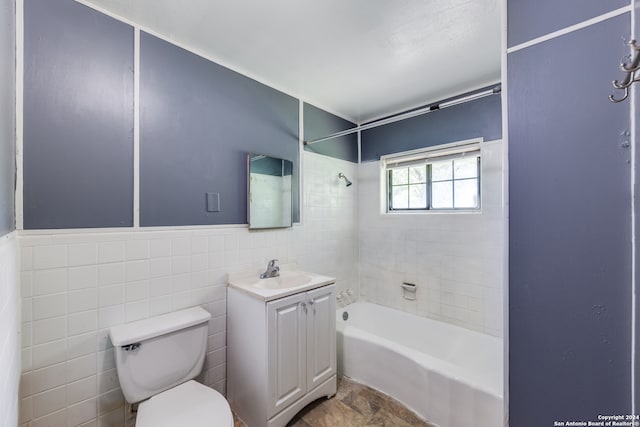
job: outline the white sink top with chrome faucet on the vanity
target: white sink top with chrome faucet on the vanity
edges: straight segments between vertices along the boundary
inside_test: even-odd
[[[278,277],[268,279],[261,279],[260,273],[262,272],[252,271],[230,275],[229,286],[254,297],[270,301],[335,282],[333,277],[300,270],[280,270]]]

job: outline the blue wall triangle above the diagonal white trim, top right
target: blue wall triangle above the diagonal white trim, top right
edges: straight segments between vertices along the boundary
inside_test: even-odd
[[[628,4],[629,0],[509,0],[509,47]]]

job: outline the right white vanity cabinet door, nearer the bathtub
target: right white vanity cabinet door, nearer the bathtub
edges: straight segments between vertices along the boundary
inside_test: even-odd
[[[336,373],[336,287],[307,292],[307,388]]]

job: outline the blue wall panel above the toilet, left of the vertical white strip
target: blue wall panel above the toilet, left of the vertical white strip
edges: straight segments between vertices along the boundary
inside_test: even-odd
[[[24,227],[133,225],[133,28],[25,1]]]

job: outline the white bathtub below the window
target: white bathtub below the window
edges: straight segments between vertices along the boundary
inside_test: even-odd
[[[501,339],[370,303],[336,315],[344,375],[441,427],[504,425]]]

